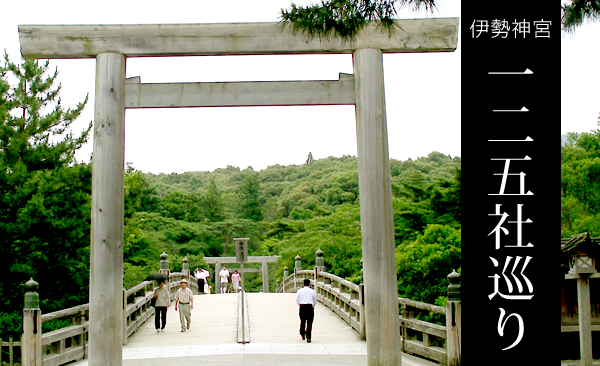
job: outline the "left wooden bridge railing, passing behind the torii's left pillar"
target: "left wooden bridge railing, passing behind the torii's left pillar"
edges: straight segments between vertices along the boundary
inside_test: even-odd
[[[166,254],[163,253],[163,256],[166,256]],[[163,257],[163,260],[165,259],[166,257]],[[164,267],[164,262],[161,263],[161,266]],[[197,281],[190,278],[189,269],[187,268],[187,258],[184,258],[183,268],[182,272],[169,272],[167,266],[169,281],[165,285],[169,288],[171,298],[175,296],[175,293],[181,287],[181,280],[184,278],[188,281],[188,286],[193,292],[197,293],[198,291]],[[31,282],[34,284],[31,285],[31,288],[35,291],[37,283],[35,281]],[[128,290],[123,290],[123,344],[127,344],[127,339],[154,314],[154,307],[150,306],[150,301],[152,300],[155,288],[155,281],[143,281]],[[28,308],[27,298],[31,294],[37,296],[37,293],[33,291],[25,295],[26,309]],[[39,304],[39,299],[37,301],[37,304]],[[37,305],[30,308],[32,310],[36,309]],[[37,308],[37,310],[33,311],[33,317],[38,316],[36,311],[39,312],[40,324],[36,324],[35,319],[27,319],[26,316],[23,317],[23,337],[21,342],[12,343],[12,348],[9,350],[11,354],[14,353],[13,348],[20,347],[21,351],[23,351],[23,347],[21,346],[23,342],[30,342],[28,344],[38,344],[41,348],[43,366],[59,366],[87,358],[89,304],[78,305],[48,314],[41,314],[41,311]],[[42,333],[41,323],[58,319],[68,319],[70,320],[70,324],[51,332]],[[27,331],[30,328],[25,324],[27,321],[30,321],[34,325],[35,331]],[[36,340],[36,338],[38,339]],[[25,352],[29,353],[33,351],[31,349],[31,351],[27,350]],[[35,359],[35,356],[30,354],[21,355],[22,360],[28,357]],[[25,365],[26,362],[22,362],[21,364]],[[19,364],[15,363],[15,366],[17,365]]]

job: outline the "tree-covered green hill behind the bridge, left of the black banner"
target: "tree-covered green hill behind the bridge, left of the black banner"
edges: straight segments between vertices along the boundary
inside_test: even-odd
[[[232,239],[249,237],[250,255],[282,256],[271,270],[277,278],[284,266],[293,268],[296,255],[304,268],[314,266],[314,253],[320,248],[328,271],[358,282],[357,158],[309,161],[260,172],[228,166],[213,172],[155,175],[130,167],[125,260],[128,270],[139,273],[127,278],[137,280],[156,265],[163,250],[179,258],[195,256],[190,261],[194,267],[203,265],[202,256],[233,256]],[[432,152],[414,161],[392,159],[390,169],[398,266],[420,266],[416,273],[402,271],[399,279],[433,277],[434,268],[441,276],[436,290],[428,290],[426,296],[422,288],[431,286],[407,286],[409,279],[400,281],[399,290],[403,296],[433,303],[443,296],[445,276],[460,268],[460,158]],[[437,262],[416,254],[425,247],[439,252]],[[247,287],[260,288],[260,278]]]

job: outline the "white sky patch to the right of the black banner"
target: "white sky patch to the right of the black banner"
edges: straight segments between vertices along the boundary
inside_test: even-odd
[[[560,133],[590,132],[600,115],[600,22],[584,24],[561,40]]]

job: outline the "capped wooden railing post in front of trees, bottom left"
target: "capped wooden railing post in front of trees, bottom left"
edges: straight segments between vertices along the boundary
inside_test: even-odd
[[[36,292],[38,283],[31,278],[25,282],[25,288],[21,362],[23,366],[42,366],[42,311],[40,295]]]

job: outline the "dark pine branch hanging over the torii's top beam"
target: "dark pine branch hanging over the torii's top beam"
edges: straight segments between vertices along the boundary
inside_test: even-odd
[[[289,9],[281,9],[281,21],[310,37],[350,40],[369,22],[392,32],[401,8],[433,13],[436,4],[434,0],[322,0],[309,6],[292,3]]]

